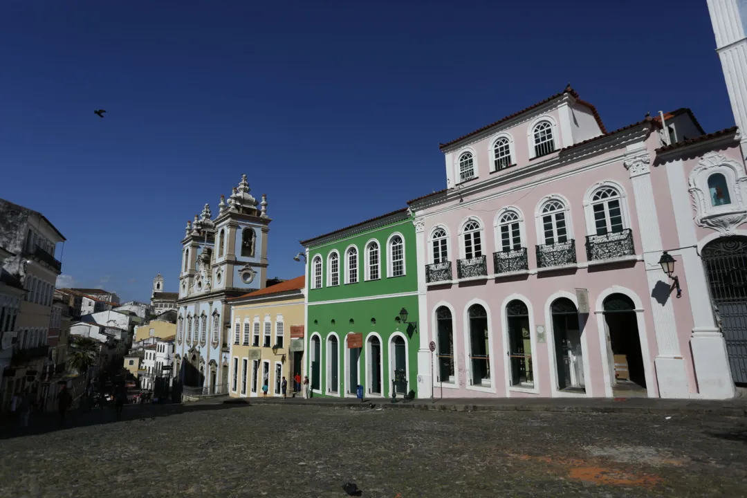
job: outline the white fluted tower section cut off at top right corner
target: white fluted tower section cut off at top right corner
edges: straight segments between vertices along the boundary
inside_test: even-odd
[[[747,0],[707,0],[716,52],[726,80],[734,122],[740,128],[742,156],[747,158]]]

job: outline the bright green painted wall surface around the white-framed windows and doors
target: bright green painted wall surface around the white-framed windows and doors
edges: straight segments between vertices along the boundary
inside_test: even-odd
[[[360,228],[359,228],[360,229]],[[399,233],[404,241],[405,275],[387,277],[389,237]],[[365,248],[368,243],[376,239],[379,243],[380,278],[365,280]],[[345,284],[345,254],[347,249],[355,245],[359,255],[359,281],[355,284]],[[368,359],[368,341],[378,335],[381,340],[381,361],[383,365],[382,396],[391,396],[390,351],[391,338],[400,332],[406,340],[406,356],[408,362],[408,391],[417,391],[418,386],[418,348],[420,337],[418,330],[412,324],[401,323],[398,319],[400,310],[406,308],[408,321],[418,320],[418,267],[415,251],[415,227],[412,218],[392,222],[362,231],[358,234],[341,237],[332,242],[309,243],[309,275],[306,277],[308,305],[306,323],[306,373],[311,382],[311,362],[314,358],[311,347],[312,337],[320,339],[320,392],[314,396],[346,396],[346,379],[348,372],[345,358],[348,355],[347,334],[359,332],[363,334],[363,347],[359,358],[359,384],[365,386],[365,396],[368,398],[368,383],[371,372]],[[328,255],[336,249],[340,255],[340,284],[335,287],[327,286]],[[320,289],[311,288],[313,278],[314,257],[320,255],[323,263],[323,284]],[[394,294],[395,296],[392,296]],[[342,302],[340,302],[342,301]],[[332,332],[337,336],[338,346],[338,386],[337,392],[330,391],[332,379],[328,379],[328,340]],[[394,363],[394,358],[391,359]],[[400,397],[400,395],[397,395]]]

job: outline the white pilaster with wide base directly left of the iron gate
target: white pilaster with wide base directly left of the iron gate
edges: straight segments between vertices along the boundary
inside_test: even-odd
[[[698,237],[692,222],[692,208],[689,202],[684,166],[681,160],[666,164],[669,195],[672,196],[672,209],[680,246],[682,266],[687,281],[684,290],[692,310],[692,336],[690,349],[698,394],[707,399],[728,399],[734,397],[734,382],[731,379],[726,342],[713,320],[713,308],[708,292],[708,281],[703,261],[695,245]]]

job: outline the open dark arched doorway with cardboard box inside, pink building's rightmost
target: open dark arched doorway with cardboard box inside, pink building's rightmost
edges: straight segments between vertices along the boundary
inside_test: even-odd
[[[646,373],[638,332],[638,317],[633,300],[616,293],[604,299],[604,323],[612,352],[611,379],[615,396],[646,391]]]

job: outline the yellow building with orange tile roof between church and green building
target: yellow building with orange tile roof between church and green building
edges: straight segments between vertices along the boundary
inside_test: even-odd
[[[229,299],[232,397],[282,396],[282,378],[293,396],[293,377],[303,359],[303,276]],[[296,337],[294,337],[296,336]]]

